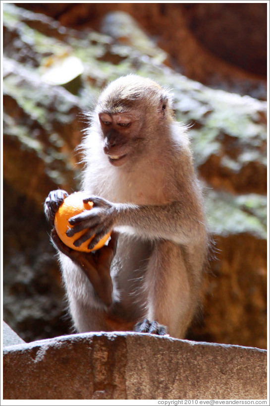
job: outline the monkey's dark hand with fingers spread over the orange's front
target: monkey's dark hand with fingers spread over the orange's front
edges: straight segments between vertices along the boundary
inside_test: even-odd
[[[93,202],[93,208],[71,217],[68,222],[73,227],[67,230],[66,235],[72,237],[76,232],[85,230],[85,233],[73,242],[76,247],[79,247],[95,234],[88,245],[88,248],[92,249],[105,234],[113,229],[117,208],[114,203],[97,196],[83,199],[83,202]]]

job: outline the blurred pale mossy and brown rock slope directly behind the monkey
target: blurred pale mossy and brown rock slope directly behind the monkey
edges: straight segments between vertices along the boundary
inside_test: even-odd
[[[266,102],[175,72],[144,33],[121,34],[119,14],[110,15],[105,34],[11,3],[3,8],[4,320],[27,342],[70,332],[43,202],[52,189],[79,189],[82,166],[73,151],[86,126],[81,114],[108,81],[134,72],[173,90],[205,184],[216,258],[188,338],[266,348]]]

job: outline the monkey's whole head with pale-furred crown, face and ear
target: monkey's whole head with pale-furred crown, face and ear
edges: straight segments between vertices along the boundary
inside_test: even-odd
[[[104,153],[111,165],[133,162],[172,119],[171,97],[158,83],[137,75],[111,82],[99,97],[98,116]]]

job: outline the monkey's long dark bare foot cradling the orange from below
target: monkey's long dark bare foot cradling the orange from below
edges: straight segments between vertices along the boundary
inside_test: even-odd
[[[55,229],[51,238],[54,246],[67,255],[85,273],[98,298],[106,306],[112,304],[112,281],[110,265],[116,252],[118,233],[112,232],[108,245],[93,252],[81,252],[67,247],[58,237]]]

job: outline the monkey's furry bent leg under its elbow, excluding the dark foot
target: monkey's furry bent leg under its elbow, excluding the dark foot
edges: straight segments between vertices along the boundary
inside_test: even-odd
[[[170,241],[159,242],[146,273],[147,319],[166,326],[169,335],[184,338],[197,303],[193,284],[181,248]]]

